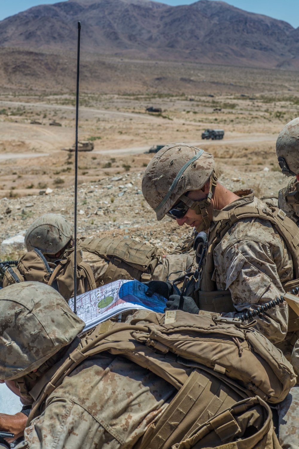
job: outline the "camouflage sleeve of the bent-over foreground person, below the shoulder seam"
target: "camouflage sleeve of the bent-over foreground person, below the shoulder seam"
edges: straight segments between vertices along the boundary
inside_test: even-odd
[[[17,449],[118,449],[121,442],[95,418],[69,399],[52,400],[43,414],[25,429]]]

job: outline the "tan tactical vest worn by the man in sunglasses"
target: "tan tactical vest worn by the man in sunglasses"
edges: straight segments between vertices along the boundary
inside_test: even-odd
[[[227,231],[244,218],[260,218],[270,221],[280,234],[293,261],[294,279],[283,285],[285,291],[299,286],[299,228],[286,216],[281,209],[268,204],[268,209],[251,206],[237,206],[230,211],[214,211],[215,223],[209,235],[209,246],[204,262],[203,276],[200,291],[196,291],[196,302],[200,309],[209,312],[228,313],[235,312],[234,303],[229,290],[217,291],[216,282],[212,281],[215,270],[213,253],[215,247]],[[274,298],[273,298],[274,299]],[[299,317],[292,308],[289,308],[288,332],[299,330]]]

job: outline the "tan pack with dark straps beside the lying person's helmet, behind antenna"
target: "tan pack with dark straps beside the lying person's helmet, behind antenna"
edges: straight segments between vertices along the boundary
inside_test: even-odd
[[[74,248],[66,250],[61,260],[47,262],[43,254],[35,248],[24,254],[12,268],[20,282],[43,282],[54,287],[66,299],[74,296]],[[3,286],[15,283],[13,276],[6,271]],[[77,295],[96,288],[95,278],[90,266],[83,262],[81,250],[77,251]]]

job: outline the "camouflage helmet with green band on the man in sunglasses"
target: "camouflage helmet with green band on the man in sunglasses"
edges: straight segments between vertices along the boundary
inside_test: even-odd
[[[143,196],[162,220],[176,201],[190,190],[201,189],[214,172],[212,154],[186,143],[164,146],[147,165]]]

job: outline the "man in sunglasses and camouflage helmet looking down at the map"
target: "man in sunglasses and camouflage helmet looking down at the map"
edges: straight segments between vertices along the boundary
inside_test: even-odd
[[[255,320],[255,327],[279,347],[288,330],[286,303],[259,316],[255,309],[280,298],[288,286],[298,286],[298,259],[292,259],[292,242],[282,238],[277,229],[287,225],[294,237],[298,230],[283,211],[260,201],[253,190],[236,195],[225,189],[217,181],[214,165],[211,154],[184,143],[166,145],[148,164],[142,189],[157,220],[167,214],[180,226],[195,226],[208,233],[199,279],[185,296],[161,282],[151,282],[148,294],[163,294],[170,310],[183,306],[190,313],[206,310],[228,318],[249,311],[249,322]],[[294,244],[297,250],[298,245]],[[298,338],[297,318],[287,343],[280,343],[288,360]],[[297,396],[298,407],[297,389],[293,396]],[[290,405],[283,413],[291,416]],[[290,441],[286,447],[298,447],[294,429],[285,427],[284,432],[281,444]]]

